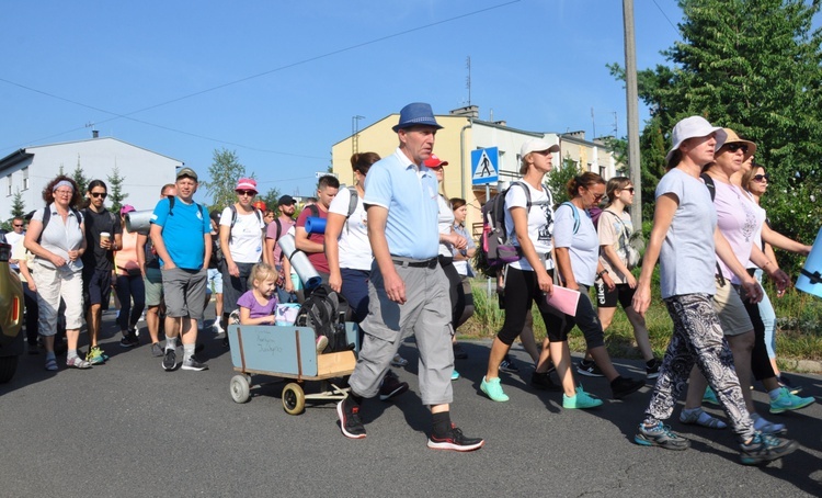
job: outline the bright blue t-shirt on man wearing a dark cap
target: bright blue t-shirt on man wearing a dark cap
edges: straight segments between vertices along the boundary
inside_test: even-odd
[[[205,258],[205,234],[212,233],[212,222],[197,203],[174,201],[169,214],[169,199],[161,199],[151,215],[151,223],[162,227],[162,241],[171,260],[183,270],[201,270]],[[163,262],[160,260],[160,264]]]

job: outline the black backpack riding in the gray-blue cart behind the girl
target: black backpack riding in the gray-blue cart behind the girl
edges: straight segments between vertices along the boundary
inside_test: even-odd
[[[349,304],[327,284],[317,287],[302,303],[294,325],[310,327],[317,337],[328,338],[328,348],[323,352],[349,351],[354,344],[345,337],[345,315]]]

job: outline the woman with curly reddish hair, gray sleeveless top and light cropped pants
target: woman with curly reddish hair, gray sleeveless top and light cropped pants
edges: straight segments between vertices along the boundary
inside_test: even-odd
[[[57,370],[54,336],[60,299],[66,303],[66,365],[91,367],[77,352],[83,320],[81,257],[85,251],[85,226],[73,207],[80,200],[81,193],[71,178],[60,174],[48,182],[43,189],[46,206],[34,213],[24,239],[25,248],[34,254],[32,276],[37,287],[39,335],[46,348],[46,370],[50,371]]]

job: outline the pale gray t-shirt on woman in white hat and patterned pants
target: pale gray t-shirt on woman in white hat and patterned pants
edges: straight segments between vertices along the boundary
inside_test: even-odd
[[[669,193],[677,197],[680,205],[660,253],[662,298],[696,293],[713,295],[717,212],[708,188],[701,180],[674,168],[660,180],[655,196]]]

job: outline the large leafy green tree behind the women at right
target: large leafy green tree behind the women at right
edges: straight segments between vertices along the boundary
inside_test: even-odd
[[[643,189],[661,174],[660,155],[671,146],[663,134],[703,115],[757,143],[755,160],[770,173],[763,206],[774,228],[813,240],[822,218],[814,196],[822,191],[822,31],[812,30],[820,3],[680,0],[682,42],[663,52],[673,66],[638,73],[652,116],[642,134]],[[619,76],[618,67],[612,72]],[[789,254],[779,258],[798,265]]]

